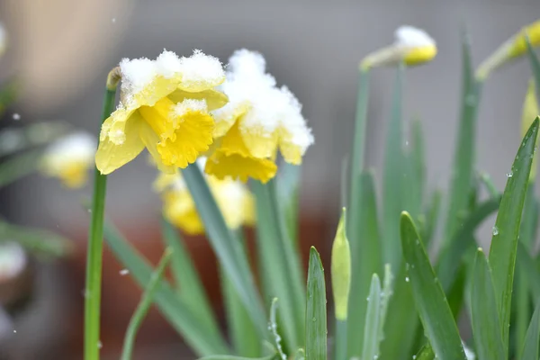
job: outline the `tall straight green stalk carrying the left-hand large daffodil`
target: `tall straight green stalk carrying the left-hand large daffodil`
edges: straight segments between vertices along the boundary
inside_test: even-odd
[[[118,67],[107,76],[107,86],[103,100],[102,122],[107,119],[114,107],[116,85],[120,81]],[[85,284],[85,360],[99,359],[99,325],[101,306],[101,282],[103,266],[103,214],[107,176],[97,168],[94,170],[94,198],[92,200],[92,220],[88,230]]]

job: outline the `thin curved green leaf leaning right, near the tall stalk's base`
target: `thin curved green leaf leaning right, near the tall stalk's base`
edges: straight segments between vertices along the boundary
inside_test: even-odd
[[[172,248],[166,248],[163,257],[161,257],[159,264],[157,264],[156,270],[150,276],[150,281],[148,282],[144,293],[142,293],[139,305],[137,305],[137,309],[135,309],[133,315],[131,316],[130,324],[128,325],[121,351],[121,360],[131,359],[133,354],[133,346],[135,345],[135,338],[137,337],[137,331],[139,331],[140,325],[142,325],[142,321],[146,317],[148,310],[150,309],[150,305],[152,305],[152,302],[154,301],[154,295],[157,291],[159,283],[161,282],[163,273],[165,273],[165,269],[171,255],[173,255]]]

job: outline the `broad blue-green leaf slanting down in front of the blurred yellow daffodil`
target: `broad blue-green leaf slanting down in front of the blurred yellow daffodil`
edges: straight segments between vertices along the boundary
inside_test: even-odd
[[[216,204],[201,169],[192,164],[182,169],[185,184],[193,197],[197,212],[201,217],[207,238],[220,260],[238,296],[257,327],[261,338],[268,338],[266,316],[258,296],[255,279],[249,268],[246,254],[243,253],[238,238],[227,227],[223,215]]]

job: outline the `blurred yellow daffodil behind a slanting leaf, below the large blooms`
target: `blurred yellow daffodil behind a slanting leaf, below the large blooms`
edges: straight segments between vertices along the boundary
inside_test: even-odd
[[[198,162],[203,166],[202,159]],[[231,178],[220,180],[211,175],[206,179],[230,229],[255,222],[254,200],[245,184]],[[161,193],[166,220],[191,235],[204,232],[202,220],[181,175],[161,173],[154,183],[154,189]]]

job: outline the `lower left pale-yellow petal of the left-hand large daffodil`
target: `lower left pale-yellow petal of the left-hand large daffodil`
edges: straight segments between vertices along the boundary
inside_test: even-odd
[[[113,142],[109,132],[108,136],[101,137],[95,153],[95,166],[104,175],[111,174],[112,171],[130,162],[144,148],[144,144],[139,138],[139,127],[144,121],[139,112],[132,112],[129,119],[121,122],[123,124],[123,142]]]

